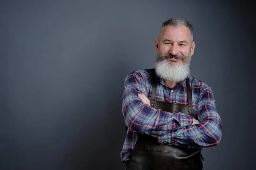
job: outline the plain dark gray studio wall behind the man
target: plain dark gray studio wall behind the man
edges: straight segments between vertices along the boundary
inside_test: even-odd
[[[154,68],[163,21],[194,26],[192,77],[223,122],[206,170],[256,166],[255,6],[190,0],[1,0],[0,170],[124,170],[123,82]]]

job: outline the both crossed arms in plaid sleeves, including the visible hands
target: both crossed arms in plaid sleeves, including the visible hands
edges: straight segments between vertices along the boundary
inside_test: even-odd
[[[138,74],[125,79],[122,111],[129,129],[158,138],[160,144],[186,148],[217,145],[221,140],[221,118],[214,97],[205,86],[198,97],[198,121],[185,113],[169,113],[148,105],[145,84]],[[185,127],[185,128],[184,128]]]

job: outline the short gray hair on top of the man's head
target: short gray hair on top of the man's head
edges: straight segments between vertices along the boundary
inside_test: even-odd
[[[173,26],[173,27],[185,26],[185,27],[189,28],[189,31],[191,33],[191,40],[193,42],[193,26],[188,21],[183,20],[181,18],[170,18],[169,20],[166,20],[165,22],[163,22],[161,29],[160,29],[160,34],[163,31],[163,28],[166,26]]]

